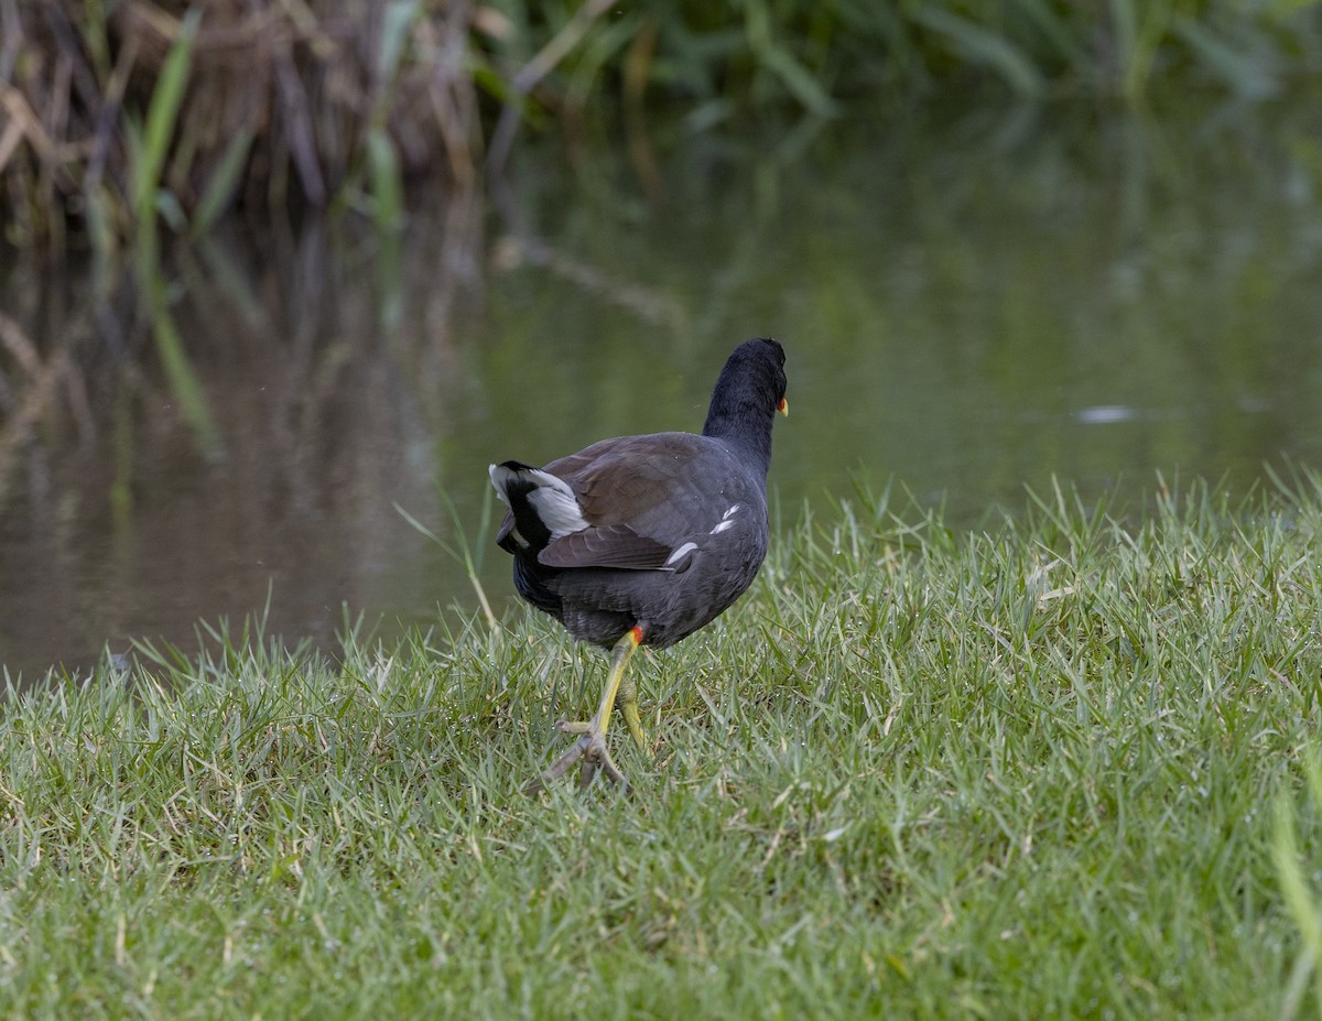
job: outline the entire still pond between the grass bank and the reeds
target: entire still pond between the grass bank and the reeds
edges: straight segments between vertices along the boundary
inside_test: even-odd
[[[505,216],[419,194],[398,243],[234,224],[180,254],[194,395],[123,284],[8,258],[0,309],[53,382],[0,353],[0,664],[473,610],[397,507],[473,541],[489,462],[698,429],[750,336],[789,357],[785,522],[855,476],[974,525],[1052,476],[1141,505],[1157,472],[1317,466],[1319,119],[932,102],[531,145]]]

